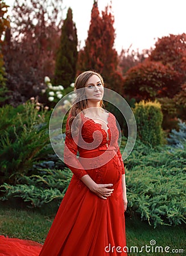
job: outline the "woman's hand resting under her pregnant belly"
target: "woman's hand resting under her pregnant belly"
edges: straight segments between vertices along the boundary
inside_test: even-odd
[[[90,191],[95,193],[97,196],[101,197],[101,199],[107,199],[113,193],[113,188],[108,188],[113,186],[113,184],[97,184],[95,183],[92,187],[90,187]]]

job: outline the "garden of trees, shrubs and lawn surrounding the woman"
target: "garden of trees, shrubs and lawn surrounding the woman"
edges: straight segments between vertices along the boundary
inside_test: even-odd
[[[94,1],[88,38],[78,49],[72,9],[62,20],[59,0],[50,15],[47,1],[23,2],[15,1],[12,16],[6,0],[0,3],[0,235],[44,242],[72,178],[51,146],[49,119],[57,102],[73,92],[77,75],[91,69],[125,98],[137,122],[137,139],[124,161],[127,246],[155,240],[176,249],[173,255],[185,255],[186,34],[164,36],[143,52],[118,54],[114,17],[108,8],[100,14]],[[117,108],[104,104],[121,127],[123,152],[126,122]]]

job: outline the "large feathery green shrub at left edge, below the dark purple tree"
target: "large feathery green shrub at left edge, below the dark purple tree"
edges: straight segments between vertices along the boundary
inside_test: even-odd
[[[48,152],[49,118],[47,109],[34,99],[16,109],[3,106],[0,113],[0,183],[15,184]]]

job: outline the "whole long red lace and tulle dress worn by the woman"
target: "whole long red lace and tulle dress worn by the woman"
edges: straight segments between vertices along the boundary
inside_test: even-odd
[[[81,120],[84,142],[100,145],[94,150],[84,149],[81,142],[75,143],[70,135],[66,136],[64,162],[73,176],[39,256],[126,256],[122,197],[125,168],[115,117],[109,113],[108,131],[83,114]],[[112,195],[104,200],[91,192],[80,180],[86,174],[98,184],[113,184]]]

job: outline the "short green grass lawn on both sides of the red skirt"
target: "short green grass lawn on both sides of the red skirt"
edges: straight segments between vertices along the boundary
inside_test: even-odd
[[[1,204],[1,203],[0,203]],[[43,243],[48,230],[52,224],[54,215],[48,210],[15,209],[5,205],[0,207],[0,234],[9,237],[33,240]],[[142,246],[150,246],[150,252],[128,253],[128,256],[184,256],[186,255],[186,225],[179,226],[159,226],[153,228],[147,222],[142,222],[138,217],[130,218],[126,216],[126,239],[127,247],[137,246],[138,250]],[[150,241],[155,240],[156,245],[151,246]],[[163,249],[169,246],[170,253],[154,252],[152,247],[162,246]],[[171,253],[172,249],[184,249],[184,253]]]

